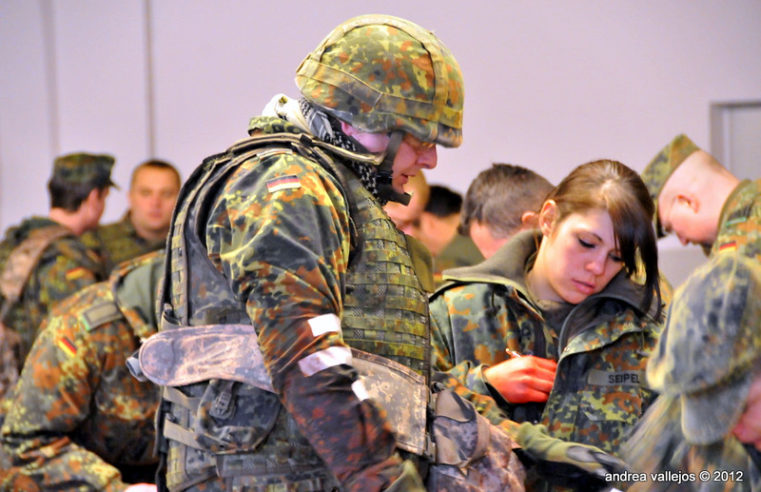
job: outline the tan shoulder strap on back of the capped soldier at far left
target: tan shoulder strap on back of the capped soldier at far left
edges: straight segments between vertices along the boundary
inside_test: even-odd
[[[71,230],[60,225],[36,229],[11,251],[8,260],[5,262],[5,268],[0,273],[0,293],[4,297],[0,319],[21,297],[29,276],[34,267],[37,266],[45,248],[56,239],[70,234],[73,234]]]

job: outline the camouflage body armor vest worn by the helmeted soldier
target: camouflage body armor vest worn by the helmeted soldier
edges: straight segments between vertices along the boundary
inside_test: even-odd
[[[293,135],[244,140],[206,159],[189,178],[170,230],[161,329],[250,326],[245,306],[206,256],[204,213],[242,162],[294,150],[319,162],[341,184],[358,231],[344,295],[345,342],[399,362],[427,380],[428,302],[404,236],[351,171]],[[165,386],[159,413],[159,451],[167,454],[166,480],[172,491],[217,476],[240,487],[236,490],[267,490],[266,484],[283,482],[294,490],[338,488],[277,395],[261,387],[224,379]]]

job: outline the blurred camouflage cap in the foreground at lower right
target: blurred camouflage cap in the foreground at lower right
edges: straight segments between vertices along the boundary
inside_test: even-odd
[[[760,361],[761,264],[718,254],[674,294],[648,381],[680,398],[687,441],[709,444],[737,423]]]

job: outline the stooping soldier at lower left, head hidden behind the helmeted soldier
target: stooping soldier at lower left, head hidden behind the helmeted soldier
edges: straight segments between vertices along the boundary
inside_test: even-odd
[[[156,332],[163,259],[156,252],[124,263],[53,309],[9,394],[2,444],[12,468],[3,490],[153,482],[159,391],[135,380],[125,361]]]

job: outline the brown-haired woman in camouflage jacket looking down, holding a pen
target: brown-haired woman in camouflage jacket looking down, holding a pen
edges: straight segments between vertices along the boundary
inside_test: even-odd
[[[540,230],[444,273],[431,297],[434,367],[514,421],[617,452],[653,397],[643,377],[660,316],[652,212],[623,164],[576,168],[544,202]],[[631,280],[638,258],[644,286]],[[536,431],[524,424],[518,444]]]

